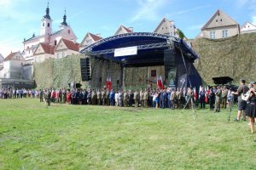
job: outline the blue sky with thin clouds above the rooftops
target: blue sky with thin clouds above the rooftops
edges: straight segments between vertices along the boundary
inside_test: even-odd
[[[39,35],[47,0],[0,0],[0,54],[22,51],[22,41]],[[57,31],[64,9],[67,23],[81,42],[85,33],[114,34],[120,25],[134,31],[154,31],[166,17],[174,20],[186,37],[194,38],[218,8],[240,25],[256,24],[256,0],[49,0],[53,30]]]

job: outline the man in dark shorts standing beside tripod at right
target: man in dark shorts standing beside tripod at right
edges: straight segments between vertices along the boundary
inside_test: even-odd
[[[241,113],[243,115],[243,120],[246,121],[246,115],[245,115],[245,110],[247,108],[247,102],[243,99],[241,99],[241,94],[246,94],[249,88],[245,85],[246,81],[241,80],[240,86],[238,87],[236,92],[232,92],[234,95],[238,95],[238,108],[237,108],[237,116],[235,119],[235,122],[240,121]]]

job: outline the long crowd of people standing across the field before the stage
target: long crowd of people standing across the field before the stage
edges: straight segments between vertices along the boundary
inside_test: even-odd
[[[221,109],[231,107],[234,103],[234,96],[237,95],[238,111],[236,122],[240,121],[241,115],[246,121],[249,117],[251,132],[254,133],[254,122],[256,116],[256,82],[246,86],[245,80],[236,92],[225,86],[212,88],[200,87],[199,92],[195,88],[146,88],[141,90],[122,90],[117,92],[114,89],[9,89],[0,88],[0,99],[22,99],[38,98],[40,102],[62,103],[71,105],[112,105],[119,107],[153,107],[155,109],[183,109],[201,108],[205,109],[209,104],[211,111],[219,112]]]

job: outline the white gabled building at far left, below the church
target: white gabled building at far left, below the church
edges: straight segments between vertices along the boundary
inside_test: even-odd
[[[0,77],[21,78],[23,65],[25,65],[25,59],[20,52],[10,53],[3,59],[3,70],[0,71]]]

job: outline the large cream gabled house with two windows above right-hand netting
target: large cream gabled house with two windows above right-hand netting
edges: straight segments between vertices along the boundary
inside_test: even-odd
[[[201,28],[201,33],[197,38],[205,37],[210,39],[219,39],[225,37],[233,37],[240,34],[240,26],[235,20],[230,18],[223,11],[218,9],[212,15],[207,24]]]

